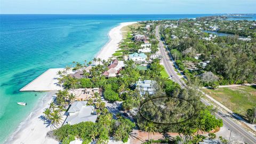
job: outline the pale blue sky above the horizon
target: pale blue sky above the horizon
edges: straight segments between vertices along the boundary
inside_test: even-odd
[[[256,0],[0,0],[1,14],[256,13]]]

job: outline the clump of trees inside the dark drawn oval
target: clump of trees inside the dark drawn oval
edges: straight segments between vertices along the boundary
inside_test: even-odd
[[[157,98],[140,107],[140,113],[156,123],[179,123],[193,116],[194,107],[187,101],[177,98]]]

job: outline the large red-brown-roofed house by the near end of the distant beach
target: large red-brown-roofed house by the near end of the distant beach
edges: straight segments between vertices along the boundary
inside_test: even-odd
[[[115,59],[108,66],[108,70],[106,70],[102,75],[106,77],[115,77],[119,74],[120,70],[124,68],[124,66],[124,61],[118,61]]]

